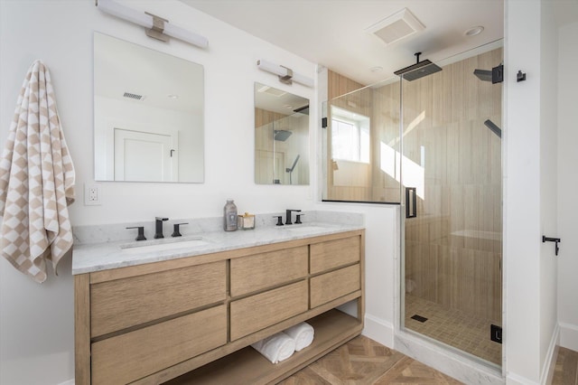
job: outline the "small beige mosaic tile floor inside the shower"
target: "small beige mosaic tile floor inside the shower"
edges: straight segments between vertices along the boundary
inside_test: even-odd
[[[427,321],[415,321],[411,318],[414,315],[425,317]],[[500,325],[406,294],[407,329],[501,365],[502,345],[489,339],[490,324]]]

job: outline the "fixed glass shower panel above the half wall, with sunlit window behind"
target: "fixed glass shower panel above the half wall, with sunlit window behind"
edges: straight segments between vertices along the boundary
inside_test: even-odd
[[[341,91],[351,81],[330,80],[330,90],[331,83]],[[328,101],[323,201],[400,202],[399,81],[382,86],[361,87]],[[396,108],[378,107],[386,101],[394,101]]]

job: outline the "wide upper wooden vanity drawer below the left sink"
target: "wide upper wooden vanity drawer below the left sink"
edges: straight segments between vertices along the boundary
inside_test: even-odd
[[[90,286],[95,337],[224,301],[225,261],[116,279]]]

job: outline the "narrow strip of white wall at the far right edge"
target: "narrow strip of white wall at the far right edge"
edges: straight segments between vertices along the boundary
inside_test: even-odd
[[[558,257],[560,345],[578,351],[578,130],[576,62],[578,21],[559,30],[558,52],[558,229],[563,240]]]

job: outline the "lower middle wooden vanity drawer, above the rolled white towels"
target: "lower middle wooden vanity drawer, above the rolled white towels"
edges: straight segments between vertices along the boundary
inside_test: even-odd
[[[231,341],[306,312],[308,296],[303,280],[231,302]]]

